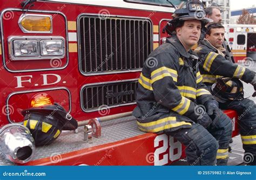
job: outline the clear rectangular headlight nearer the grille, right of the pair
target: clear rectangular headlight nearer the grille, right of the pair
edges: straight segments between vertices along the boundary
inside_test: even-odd
[[[42,40],[42,56],[62,56],[64,55],[64,42],[62,40]]]

